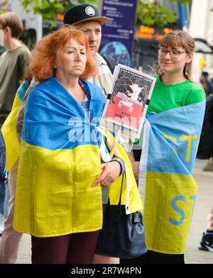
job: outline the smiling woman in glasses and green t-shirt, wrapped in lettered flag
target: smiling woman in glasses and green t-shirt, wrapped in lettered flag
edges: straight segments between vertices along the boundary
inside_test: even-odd
[[[148,252],[121,263],[183,264],[197,195],[192,174],[205,93],[192,78],[195,42],[182,30],[174,30],[158,47],[158,76],[146,114],[140,162],[131,154],[139,185],[146,186]]]

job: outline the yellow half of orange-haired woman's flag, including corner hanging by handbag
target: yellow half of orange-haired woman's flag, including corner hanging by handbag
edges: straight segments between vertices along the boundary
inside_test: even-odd
[[[126,199],[124,182],[122,203],[126,204],[127,201],[129,213],[141,210],[143,206],[131,162],[119,144],[116,155],[125,162],[130,189]],[[57,165],[53,164],[55,160],[58,161]],[[92,186],[100,172],[97,145],[80,145],[72,150],[47,150],[22,140],[14,230],[36,237],[50,237],[101,229],[101,188],[100,185]],[[118,204],[120,190],[121,177],[111,184],[111,204]]]

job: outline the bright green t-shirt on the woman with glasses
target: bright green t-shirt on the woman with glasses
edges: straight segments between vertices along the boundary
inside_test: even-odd
[[[204,90],[190,80],[177,84],[165,84],[157,77],[146,114],[150,112],[160,113],[181,106],[196,104],[204,99]],[[141,149],[142,139],[143,130],[134,149]]]

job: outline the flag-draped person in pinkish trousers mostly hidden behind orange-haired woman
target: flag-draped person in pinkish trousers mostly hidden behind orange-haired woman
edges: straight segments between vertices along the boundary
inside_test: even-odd
[[[13,230],[13,214],[14,200],[16,192],[16,179],[18,171],[18,157],[20,145],[16,135],[16,121],[18,111],[21,106],[21,101],[26,93],[26,89],[31,83],[31,75],[26,72],[23,77],[23,82],[18,87],[11,113],[4,121],[1,127],[2,134],[6,145],[6,170],[9,171],[8,186],[9,186],[9,206],[8,214],[4,220],[4,229],[2,231],[0,243],[0,264],[15,264],[18,256],[18,246],[21,243],[22,233]]]

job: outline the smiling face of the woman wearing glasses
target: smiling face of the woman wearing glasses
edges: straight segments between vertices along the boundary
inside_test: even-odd
[[[188,54],[181,47],[160,46],[158,52],[158,62],[163,72],[175,73],[183,72],[186,63],[192,61],[192,54]]]

